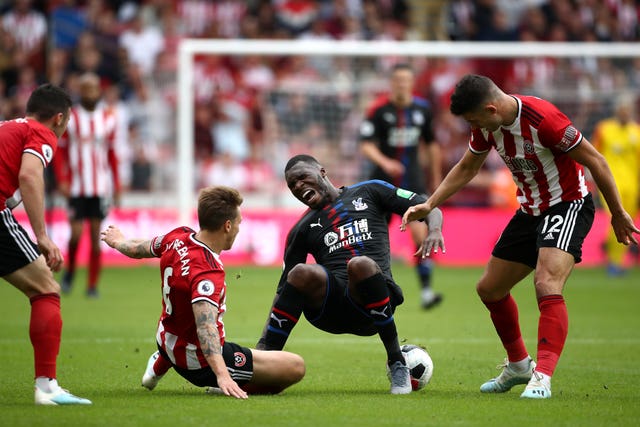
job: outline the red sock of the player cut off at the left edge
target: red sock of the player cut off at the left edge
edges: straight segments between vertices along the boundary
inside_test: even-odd
[[[33,345],[36,378],[56,378],[56,358],[62,335],[60,295],[40,294],[31,297],[30,301],[29,337]]]

